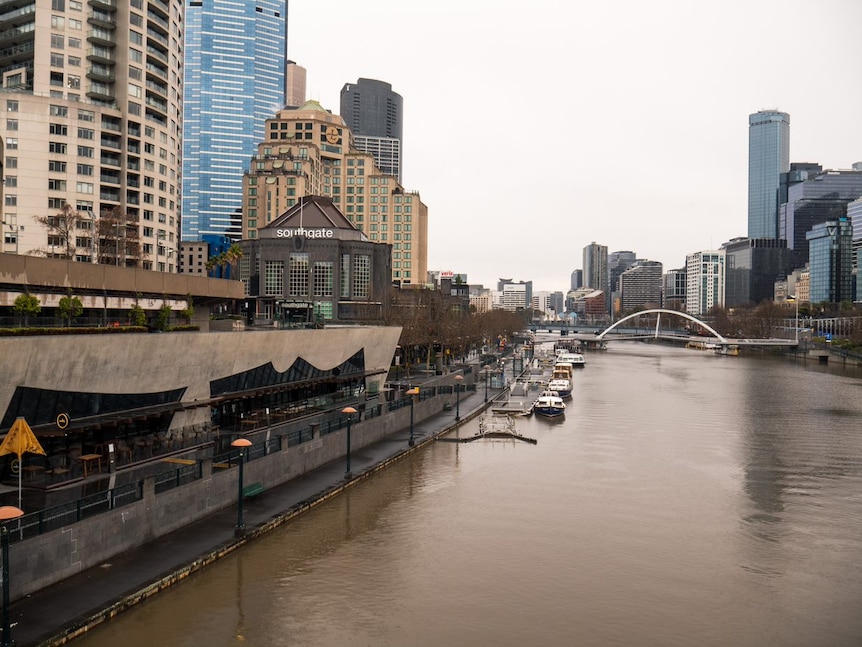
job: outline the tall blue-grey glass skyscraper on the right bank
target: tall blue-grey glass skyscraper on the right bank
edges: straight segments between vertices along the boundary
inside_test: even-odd
[[[790,115],[761,110],[748,116],[748,237],[778,238],[781,174],[790,170]]]

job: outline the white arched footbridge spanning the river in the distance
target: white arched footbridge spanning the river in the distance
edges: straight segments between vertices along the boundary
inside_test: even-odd
[[[639,325],[644,316],[654,315],[655,322],[649,326]],[[662,315],[673,315],[682,317],[695,324],[702,334],[692,334],[691,332],[675,329],[662,328]],[[668,320],[666,320],[668,321]],[[634,324],[634,325],[633,325]],[[548,332],[559,332],[563,336],[568,336],[570,339],[576,339],[581,342],[586,348],[601,348],[609,341],[630,341],[630,340],[645,340],[645,339],[661,339],[669,342],[681,344],[698,343],[704,347],[715,348],[717,352],[729,352],[730,349],[739,348],[742,346],[772,346],[772,347],[790,347],[795,348],[799,345],[798,333],[794,339],[768,338],[768,339],[745,339],[725,337],[705,321],[701,321],[686,312],[678,312],[676,310],[667,310],[665,308],[654,308],[651,310],[641,310],[619,321],[614,322],[606,328],[597,326],[574,326],[567,322],[543,322],[542,324],[533,324],[530,327],[532,332],[547,330]]]

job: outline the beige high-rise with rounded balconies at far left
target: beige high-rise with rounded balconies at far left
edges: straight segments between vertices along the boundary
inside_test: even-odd
[[[177,0],[0,2],[0,251],[176,272],[183,18]]]

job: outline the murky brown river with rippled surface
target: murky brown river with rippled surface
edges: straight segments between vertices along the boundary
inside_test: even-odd
[[[614,343],[574,377],[536,445],[433,444],[74,644],[862,644],[859,369]]]

